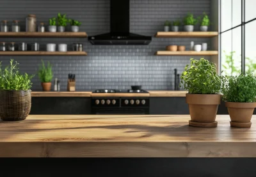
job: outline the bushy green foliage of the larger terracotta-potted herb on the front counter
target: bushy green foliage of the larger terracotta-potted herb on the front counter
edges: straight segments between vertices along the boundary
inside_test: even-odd
[[[180,87],[189,94],[217,94],[221,88],[221,78],[216,73],[216,64],[205,60],[191,59],[181,75]]]

